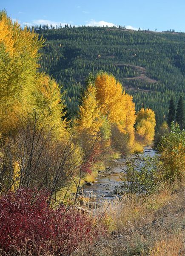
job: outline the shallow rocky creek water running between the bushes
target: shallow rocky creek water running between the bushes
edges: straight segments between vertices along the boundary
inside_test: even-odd
[[[154,156],[156,151],[152,148],[145,147],[143,155]],[[133,155],[131,157],[139,157]],[[104,172],[100,172],[97,177],[96,182],[93,185],[85,185],[83,189],[83,194],[85,197],[90,199],[93,198],[93,201],[98,202],[102,200],[110,200],[115,197],[114,189],[121,183],[120,175],[123,169],[125,168],[126,161],[128,158],[120,158],[118,160],[113,160],[108,163],[108,166]]]

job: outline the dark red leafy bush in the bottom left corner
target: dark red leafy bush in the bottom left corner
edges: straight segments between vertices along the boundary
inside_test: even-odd
[[[34,255],[71,253],[81,242],[94,241],[97,230],[88,215],[64,206],[54,210],[47,192],[29,189],[0,197],[0,249],[5,253],[31,250]],[[40,252],[40,253],[38,253]]]

